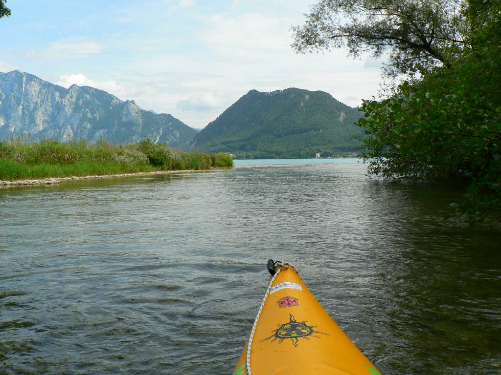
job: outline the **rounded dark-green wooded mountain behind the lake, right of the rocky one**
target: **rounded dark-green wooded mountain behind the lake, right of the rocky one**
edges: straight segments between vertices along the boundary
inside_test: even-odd
[[[250,90],[197,133],[191,150],[237,157],[314,157],[354,152],[361,113],[323,91]]]

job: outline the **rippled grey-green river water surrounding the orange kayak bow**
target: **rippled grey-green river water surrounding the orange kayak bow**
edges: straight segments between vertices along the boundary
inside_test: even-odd
[[[1,189],[0,374],[231,373],[269,258],[383,374],[501,373],[499,231],[354,161]]]

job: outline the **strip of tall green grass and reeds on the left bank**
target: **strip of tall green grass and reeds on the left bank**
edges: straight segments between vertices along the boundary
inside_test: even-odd
[[[126,145],[86,140],[0,141],[0,180],[230,167],[231,156],[188,152],[145,139]]]

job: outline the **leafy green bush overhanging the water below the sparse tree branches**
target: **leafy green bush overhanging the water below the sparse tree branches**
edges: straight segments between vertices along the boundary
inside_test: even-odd
[[[501,203],[501,106],[472,90],[468,73],[447,95],[405,82],[398,95],[364,101],[366,117],[358,124],[372,135],[363,153],[370,173],[467,181],[462,199],[451,207],[475,221]]]

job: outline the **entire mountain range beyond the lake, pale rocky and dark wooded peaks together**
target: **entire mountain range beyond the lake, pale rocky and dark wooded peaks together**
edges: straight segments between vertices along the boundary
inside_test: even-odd
[[[64,88],[19,70],[0,73],[0,140],[22,135],[123,144],[149,138],[237,157],[325,157],[357,149],[361,141],[354,135],[363,135],[354,125],[359,117],[356,108],[323,91],[250,90],[197,131],[97,88]]]

